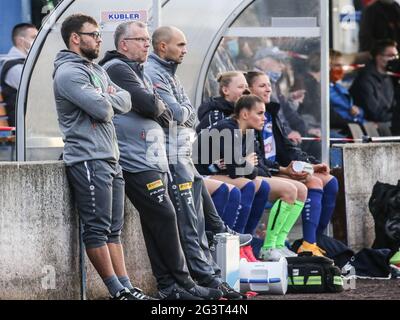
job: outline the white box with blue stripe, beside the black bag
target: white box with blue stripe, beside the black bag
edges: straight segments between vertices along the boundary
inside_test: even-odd
[[[277,262],[240,261],[240,291],[255,291],[276,295],[286,294],[288,286],[287,261]]]

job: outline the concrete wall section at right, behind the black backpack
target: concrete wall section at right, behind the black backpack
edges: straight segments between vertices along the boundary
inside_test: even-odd
[[[358,251],[375,239],[374,220],[368,209],[377,181],[397,184],[400,179],[400,144],[346,144],[343,150],[347,241]]]

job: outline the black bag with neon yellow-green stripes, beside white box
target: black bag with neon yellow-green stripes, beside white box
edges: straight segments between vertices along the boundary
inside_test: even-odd
[[[333,260],[308,253],[286,258],[288,293],[342,292],[343,279]]]

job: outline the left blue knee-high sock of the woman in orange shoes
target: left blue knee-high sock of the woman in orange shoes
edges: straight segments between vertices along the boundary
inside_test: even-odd
[[[321,189],[308,189],[307,199],[301,213],[303,220],[303,239],[309,243],[316,243],[317,227],[321,216]]]

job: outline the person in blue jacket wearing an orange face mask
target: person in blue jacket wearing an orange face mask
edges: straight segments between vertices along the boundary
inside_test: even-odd
[[[340,84],[344,77],[342,54],[338,51],[330,52],[330,121],[331,136],[337,133],[350,136],[348,123],[364,123],[364,110],[354,105],[349,91]]]

